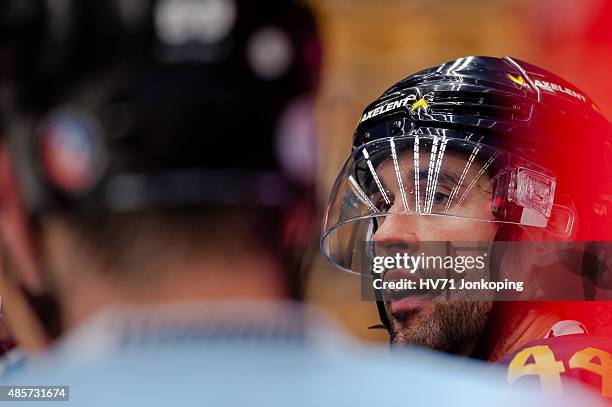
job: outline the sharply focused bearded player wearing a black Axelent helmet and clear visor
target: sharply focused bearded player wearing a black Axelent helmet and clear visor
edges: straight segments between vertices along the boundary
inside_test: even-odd
[[[450,61],[365,109],[322,248],[365,274],[371,255],[484,253],[482,269],[386,270],[456,288],[379,289],[391,343],[505,361],[509,383],[554,394],[578,378],[612,400],[611,157],[610,123],[574,85],[510,57]],[[481,281],[508,288],[462,288]]]

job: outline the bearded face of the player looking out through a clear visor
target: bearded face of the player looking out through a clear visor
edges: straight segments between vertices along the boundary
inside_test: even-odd
[[[427,158],[427,157],[425,157]],[[398,157],[401,172],[407,174],[404,182],[404,195],[408,200],[414,199],[415,177],[410,153]],[[426,162],[426,161],[425,161]],[[445,214],[452,212],[455,202],[452,201],[452,191],[459,180],[467,184],[469,180],[479,177],[476,187],[469,190],[461,203],[461,215],[456,216],[423,216],[403,214],[401,206],[405,205],[399,199],[402,191],[396,179],[397,171],[393,163],[386,162],[376,168],[376,172],[384,185],[389,189],[392,198],[389,214],[378,221],[378,229],[374,241],[378,248],[385,248],[394,253],[421,253],[419,244],[433,241],[493,241],[497,232],[495,223],[483,220],[493,219],[491,213],[492,186],[485,174],[478,175],[482,165],[474,163],[467,173],[466,157],[460,153],[447,152],[444,165],[440,169],[435,193],[431,195],[431,213]],[[422,180],[420,191],[425,191],[427,176],[417,177]],[[459,185],[459,193],[463,196],[467,185]],[[421,192],[421,195],[424,195]],[[412,198],[412,199],[411,199]],[[458,198],[455,198],[458,199]],[[412,202],[418,202],[412,200]],[[421,203],[423,205],[424,203]],[[449,213],[450,214],[450,213]],[[397,278],[397,270],[394,270]],[[388,274],[394,274],[388,273]],[[401,273],[401,272],[400,272]],[[417,274],[419,271],[417,271]],[[413,275],[414,276],[414,275]],[[391,340],[393,343],[416,344],[434,349],[464,353],[469,352],[469,346],[481,334],[491,308],[485,301],[450,301],[434,298],[428,293],[410,293],[403,291],[401,296],[392,295],[385,298],[385,308],[391,323]]]

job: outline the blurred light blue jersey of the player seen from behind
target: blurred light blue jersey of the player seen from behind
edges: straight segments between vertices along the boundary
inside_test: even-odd
[[[506,387],[501,371],[465,359],[360,344],[293,303],[109,309],[2,382],[70,387],[68,402],[6,404],[19,406],[581,403]]]

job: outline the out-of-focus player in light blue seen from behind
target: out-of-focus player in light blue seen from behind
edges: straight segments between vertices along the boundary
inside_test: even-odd
[[[545,404],[473,365],[385,360],[289,301],[312,214],[303,6],[20,0],[0,15],[16,53],[2,290],[20,344],[45,353],[5,384],[71,386],[87,406],[391,403],[383,386]]]

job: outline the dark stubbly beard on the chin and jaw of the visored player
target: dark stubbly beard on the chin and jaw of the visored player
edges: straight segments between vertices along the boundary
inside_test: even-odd
[[[421,310],[396,313],[391,320],[391,343],[417,345],[452,354],[469,354],[482,335],[493,307],[485,301],[444,301],[416,326],[407,326]]]

